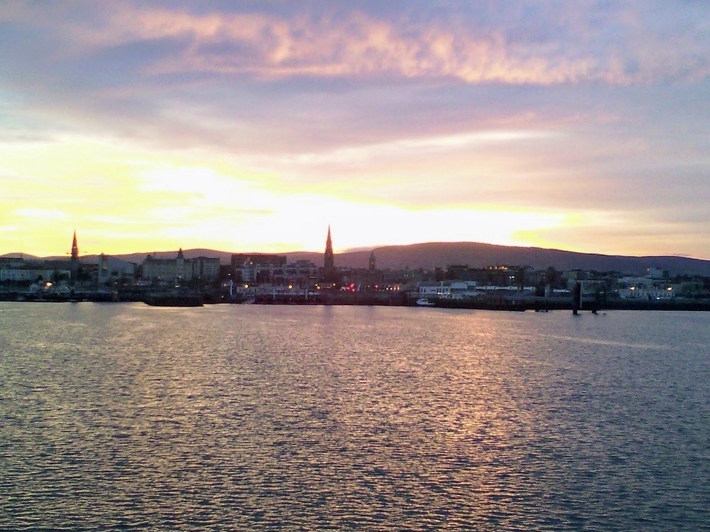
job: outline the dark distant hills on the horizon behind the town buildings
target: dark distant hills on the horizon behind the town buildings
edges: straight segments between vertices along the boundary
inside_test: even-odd
[[[240,251],[241,252],[241,251]],[[156,258],[175,258],[177,250],[154,251]],[[256,251],[255,251],[256,253]],[[6,256],[17,254],[7,254]],[[141,264],[148,253],[133,253],[118,255],[119,259]],[[307,260],[318,266],[323,265],[323,254],[310,251],[285,253],[288,261]],[[375,249],[378,268],[444,268],[454,264],[465,264],[471,267],[484,267],[494,264],[516,266],[532,266],[535,269],[545,269],[549,266],[557,270],[574,269],[596,271],[620,271],[622,273],[644,273],[646,268],[661,268],[672,275],[689,274],[710,276],[710,261],[690,259],[680,256],[617,256],[589,253],[576,253],[559,249],[543,249],[537,247],[497,246],[494,244],[479,244],[476,242],[428,242],[425,244],[410,244],[408,246],[383,246]],[[214,251],[213,249],[187,249],[187,258],[197,256],[219,257],[222,264],[229,264],[231,251]],[[366,268],[370,251],[351,251],[335,256],[335,264],[340,268]],[[60,257],[67,259],[66,256]],[[96,263],[97,256],[82,256],[82,261]]]

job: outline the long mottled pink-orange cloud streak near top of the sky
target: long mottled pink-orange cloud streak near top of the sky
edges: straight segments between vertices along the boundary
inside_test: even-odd
[[[577,22],[579,23],[579,21]],[[79,35],[79,33],[76,33]],[[80,39],[116,45],[174,39],[172,55],[146,68],[149,75],[180,72],[285,77],[403,77],[452,79],[470,84],[555,85],[648,82],[669,72],[707,75],[701,62],[674,65],[674,53],[653,55],[657,43],[638,45],[635,72],[614,50],[568,53],[564,45],[532,46],[496,28],[462,23],[394,23],[362,12],[344,18],[265,13],[191,14],[124,6]],[[687,72],[686,72],[687,74]]]

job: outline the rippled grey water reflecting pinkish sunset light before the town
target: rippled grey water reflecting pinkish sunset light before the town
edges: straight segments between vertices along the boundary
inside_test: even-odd
[[[1,530],[698,531],[710,313],[0,303]]]

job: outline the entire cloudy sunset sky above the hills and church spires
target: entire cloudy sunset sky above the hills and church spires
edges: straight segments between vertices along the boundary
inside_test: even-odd
[[[3,0],[0,254],[710,259],[706,0]]]

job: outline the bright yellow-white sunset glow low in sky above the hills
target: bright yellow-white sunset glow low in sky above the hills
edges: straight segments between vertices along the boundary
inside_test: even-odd
[[[178,247],[226,251],[321,251],[325,228],[337,249],[421,241],[517,243],[515,232],[558,227],[559,215],[495,206],[410,207],[282,190],[269,176],[199,158],[147,155],[84,139],[0,148],[6,180],[0,227],[21,227],[25,251],[62,254],[75,227],[87,253]],[[52,160],[49,169],[40,161]],[[53,180],[74,183],[59,200]],[[18,221],[21,220],[21,223]],[[0,232],[5,249],[17,238]],[[14,241],[13,241],[14,240]]]

